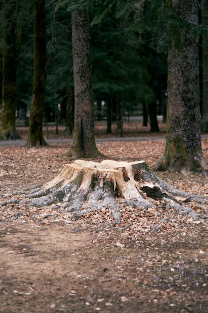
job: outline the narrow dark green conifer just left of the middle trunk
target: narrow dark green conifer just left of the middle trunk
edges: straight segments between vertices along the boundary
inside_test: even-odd
[[[46,119],[51,120],[54,111],[58,113],[57,122],[66,126],[65,131],[72,133],[73,102],[73,60],[71,41],[71,14],[67,5],[56,6],[48,3],[47,13],[47,87]],[[57,110],[57,105],[59,105]],[[72,106],[72,107],[71,107]]]

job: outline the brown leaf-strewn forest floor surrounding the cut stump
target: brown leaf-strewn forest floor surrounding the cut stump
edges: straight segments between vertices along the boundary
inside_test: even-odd
[[[125,123],[124,136],[137,140],[100,141],[97,146],[108,159],[145,160],[151,166],[165,149],[165,124],[159,127],[159,133],[150,133],[140,122]],[[26,138],[27,127],[17,131]],[[95,132],[106,137],[105,124],[96,122]],[[108,135],[113,136],[119,137],[115,128]],[[65,137],[63,127],[59,135],[49,127],[49,138]],[[65,142],[0,146],[0,202],[14,197],[14,190],[21,193],[55,177],[71,162],[68,149]],[[208,161],[207,138],[202,149]],[[208,198],[203,172],[157,174]],[[208,214],[208,205],[192,207]],[[121,214],[122,223],[112,225],[108,208],[70,220],[53,205],[0,206],[0,313],[207,313],[208,221],[193,221],[171,209],[159,214],[127,205]]]

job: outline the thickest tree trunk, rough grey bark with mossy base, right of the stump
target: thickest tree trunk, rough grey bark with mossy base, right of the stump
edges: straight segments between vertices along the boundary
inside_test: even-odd
[[[200,133],[199,48],[187,22],[198,24],[198,0],[172,0],[185,21],[174,27],[168,54],[168,112],[166,149],[157,169],[190,171],[208,168],[202,155]]]

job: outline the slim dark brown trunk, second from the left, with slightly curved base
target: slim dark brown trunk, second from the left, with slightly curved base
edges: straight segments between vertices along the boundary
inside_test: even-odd
[[[42,115],[46,88],[45,0],[34,0],[34,76],[29,131],[26,145],[47,145],[42,134]]]

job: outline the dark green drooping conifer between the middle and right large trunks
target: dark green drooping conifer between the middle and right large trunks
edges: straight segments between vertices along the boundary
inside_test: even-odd
[[[135,4],[121,2],[95,6],[90,29],[94,97],[96,103],[105,103],[107,132],[112,119],[120,133],[125,112],[132,112],[139,102],[156,101],[146,46],[135,22]]]

